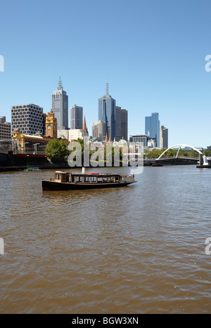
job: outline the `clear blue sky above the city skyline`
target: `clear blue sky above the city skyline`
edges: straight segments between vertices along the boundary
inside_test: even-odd
[[[69,107],[98,120],[109,93],[129,112],[129,134],[159,112],[169,144],[211,144],[210,0],[2,1],[0,115],[11,105],[51,110],[61,76]],[[70,119],[70,117],[69,117]]]

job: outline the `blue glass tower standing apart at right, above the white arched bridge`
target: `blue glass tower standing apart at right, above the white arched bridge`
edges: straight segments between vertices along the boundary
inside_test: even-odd
[[[151,116],[145,117],[145,134],[149,138],[155,139],[157,147],[160,147],[160,121],[158,113],[152,113]]]

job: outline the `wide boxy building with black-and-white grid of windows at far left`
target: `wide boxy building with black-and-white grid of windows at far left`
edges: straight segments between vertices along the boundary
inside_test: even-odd
[[[34,104],[12,106],[12,133],[18,129],[21,134],[34,135],[37,132],[42,134],[44,131],[43,115],[43,108]]]

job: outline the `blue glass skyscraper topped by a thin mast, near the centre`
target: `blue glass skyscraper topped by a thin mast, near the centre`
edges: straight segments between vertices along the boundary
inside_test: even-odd
[[[116,100],[108,94],[108,83],[106,84],[106,95],[98,99],[98,121],[106,122],[106,134],[114,140],[116,136]]]

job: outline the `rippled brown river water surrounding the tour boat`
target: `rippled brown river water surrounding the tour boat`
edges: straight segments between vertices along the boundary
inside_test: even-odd
[[[43,192],[53,173],[0,173],[0,313],[211,312],[211,170],[145,167],[126,188]]]

